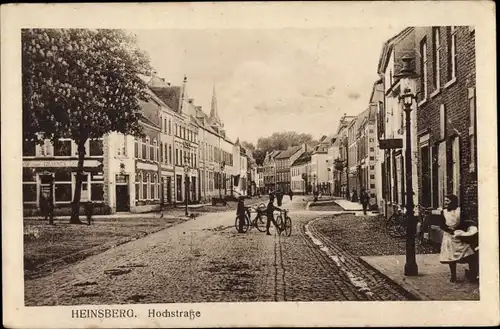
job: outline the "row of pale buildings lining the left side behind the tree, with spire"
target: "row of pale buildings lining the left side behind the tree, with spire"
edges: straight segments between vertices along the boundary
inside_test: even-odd
[[[249,151],[226,136],[215,88],[210,115],[181,86],[145,78],[148,100],[140,101],[146,137],[112,133],[87,143],[82,201],[111,212],[143,212],[160,205],[207,202],[212,197],[256,193],[257,168]],[[56,207],[69,206],[76,183],[77,152],[71,140],[43,146],[24,143],[23,202],[39,207],[50,190]],[[187,189],[187,193],[186,193]]]

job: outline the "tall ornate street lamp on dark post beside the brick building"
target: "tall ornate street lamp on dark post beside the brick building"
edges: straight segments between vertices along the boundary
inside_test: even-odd
[[[403,109],[406,114],[406,149],[405,149],[405,165],[406,165],[406,263],[404,274],[406,276],[418,275],[418,266],[415,259],[415,233],[417,223],[413,215],[413,181],[412,181],[412,162],[411,162],[411,110],[413,100],[415,97],[414,92],[414,79],[418,77],[412,66],[413,58],[411,56],[404,56],[402,58],[403,67],[401,71],[394,75],[395,78],[400,78],[401,94],[399,101],[403,104]]]

